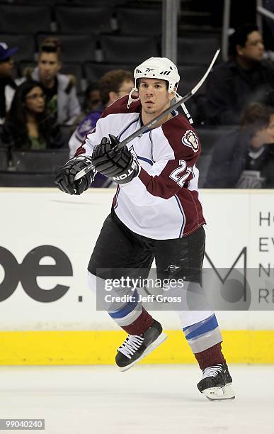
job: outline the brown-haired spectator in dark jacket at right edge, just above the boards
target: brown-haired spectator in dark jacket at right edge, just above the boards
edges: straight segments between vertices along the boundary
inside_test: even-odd
[[[217,141],[204,187],[274,187],[273,107],[251,104],[241,126]]]

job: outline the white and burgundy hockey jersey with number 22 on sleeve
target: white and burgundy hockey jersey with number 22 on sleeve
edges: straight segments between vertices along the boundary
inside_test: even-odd
[[[108,134],[120,141],[141,126],[141,104],[127,109],[127,96],[102,113],[76,155],[92,155]],[[120,221],[139,235],[156,240],[181,238],[205,224],[195,167],[200,142],[195,130],[180,113],[158,128],[135,138],[127,147],[141,169],[131,182],[118,186],[113,207]]]

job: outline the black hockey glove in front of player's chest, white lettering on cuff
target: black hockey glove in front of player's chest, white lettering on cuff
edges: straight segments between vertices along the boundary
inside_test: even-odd
[[[127,148],[115,149],[119,140],[110,134],[110,139],[103,137],[91,157],[92,164],[97,172],[110,177],[117,184],[127,184],[137,177],[139,165]]]

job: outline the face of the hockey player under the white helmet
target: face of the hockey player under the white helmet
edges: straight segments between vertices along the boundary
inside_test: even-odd
[[[168,92],[166,82],[161,79],[140,79],[138,90],[142,111],[153,117],[166,110],[174,96],[173,92]]]

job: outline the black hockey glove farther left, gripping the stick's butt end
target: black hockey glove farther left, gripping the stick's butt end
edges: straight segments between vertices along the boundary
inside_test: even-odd
[[[59,167],[55,172],[55,184],[57,184],[59,190],[68,194],[81,194],[88,189],[96,174],[94,170],[91,170],[77,181],[74,181],[74,177],[76,173],[91,165],[91,163],[91,157],[79,155],[79,157],[74,157],[66,162],[64,166]]]

